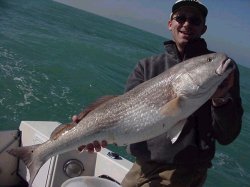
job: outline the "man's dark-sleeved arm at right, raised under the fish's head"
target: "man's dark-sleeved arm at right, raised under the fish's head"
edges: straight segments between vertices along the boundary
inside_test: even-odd
[[[211,107],[215,137],[223,145],[231,143],[239,135],[242,124],[243,108],[237,67],[233,72],[233,79],[231,74],[231,77],[229,76],[225,83],[227,85],[224,85],[224,87],[228,86],[229,91],[222,95],[217,92],[219,97],[215,96],[212,99],[213,105]],[[232,85],[230,86],[230,84]]]

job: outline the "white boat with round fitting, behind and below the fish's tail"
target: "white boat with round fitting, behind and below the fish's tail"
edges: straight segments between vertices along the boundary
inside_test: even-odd
[[[29,171],[6,151],[42,143],[60,125],[53,121],[22,121],[18,130],[0,132],[0,187],[26,187]],[[73,150],[50,158],[38,172],[32,187],[61,187],[74,179],[100,179],[119,186],[132,162],[109,149],[88,153]],[[98,186],[100,187],[100,186]]]

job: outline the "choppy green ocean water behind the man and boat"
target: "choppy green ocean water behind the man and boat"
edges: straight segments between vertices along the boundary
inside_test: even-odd
[[[50,0],[1,0],[0,23],[1,130],[22,120],[69,122],[97,98],[123,93],[137,61],[162,52],[165,40]],[[250,69],[239,69],[242,131],[217,146],[206,187],[250,186]]]

